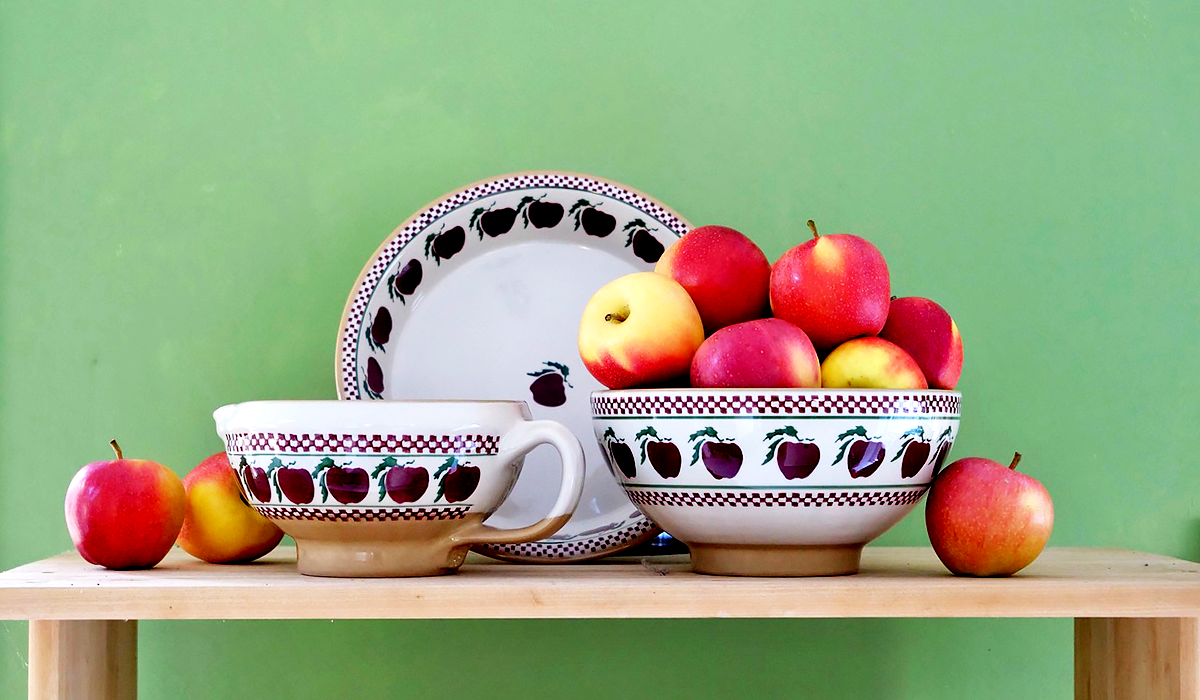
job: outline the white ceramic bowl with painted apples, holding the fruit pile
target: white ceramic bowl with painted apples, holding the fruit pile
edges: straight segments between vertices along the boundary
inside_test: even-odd
[[[959,427],[956,391],[592,394],[608,468],[707,574],[832,575],[916,507]]]

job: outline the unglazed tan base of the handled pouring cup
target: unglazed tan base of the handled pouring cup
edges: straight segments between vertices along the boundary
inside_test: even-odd
[[[296,540],[296,569],[308,576],[401,578],[455,573],[469,545],[449,537],[462,520],[420,522],[276,521]],[[336,538],[336,539],[335,539]]]

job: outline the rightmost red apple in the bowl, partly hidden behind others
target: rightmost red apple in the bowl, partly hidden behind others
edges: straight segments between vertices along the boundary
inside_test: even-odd
[[[962,336],[936,301],[923,297],[892,300],[880,337],[902,347],[917,360],[929,385],[953,389],[962,375]]]

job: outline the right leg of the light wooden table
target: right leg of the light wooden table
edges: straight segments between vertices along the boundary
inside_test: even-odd
[[[1200,698],[1200,618],[1075,620],[1075,700]]]

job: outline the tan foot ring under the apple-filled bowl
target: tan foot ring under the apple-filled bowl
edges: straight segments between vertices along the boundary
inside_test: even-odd
[[[858,573],[862,544],[728,545],[688,543],[691,569],[721,576],[841,576]]]

